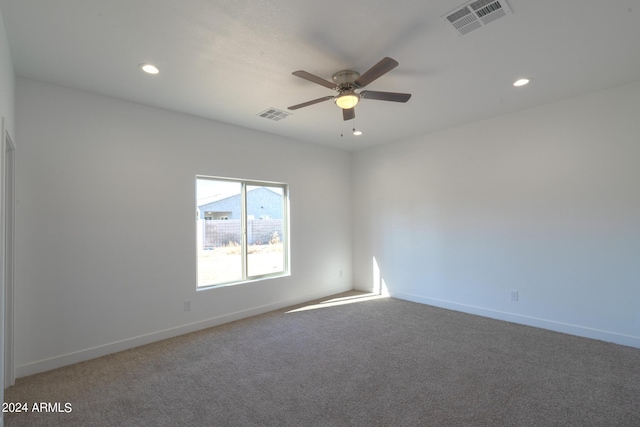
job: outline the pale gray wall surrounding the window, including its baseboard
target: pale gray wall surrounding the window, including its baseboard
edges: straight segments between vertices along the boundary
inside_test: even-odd
[[[33,80],[16,96],[18,375],[351,289],[350,153]],[[289,184],[290,277],[196,291],[196,175]]]

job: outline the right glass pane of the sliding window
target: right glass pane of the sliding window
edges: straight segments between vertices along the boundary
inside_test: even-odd
[[[284,189],[247,186],[247,275],[262,276],[285,268]]]

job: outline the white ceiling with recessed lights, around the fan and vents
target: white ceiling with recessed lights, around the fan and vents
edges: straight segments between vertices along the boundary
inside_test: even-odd
[[[16,74],[347,150],[405,139],[640,79],[640,0],[506,0],[466,36],[442,15],[464,0],[0,0]],[[274,122],[259,113],[332,95],[326,80],[400,65],[354,123],[331,101]],[[149,76],[138,64],[151,62]],[[526,76],[532,83],[512,87]],[[341,137],[344,133],[344,137]]]

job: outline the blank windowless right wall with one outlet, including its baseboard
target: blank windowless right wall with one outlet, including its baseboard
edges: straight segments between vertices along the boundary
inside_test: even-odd
[[[357,152],[355,285],[640,347],[639,159],[640,84]]]

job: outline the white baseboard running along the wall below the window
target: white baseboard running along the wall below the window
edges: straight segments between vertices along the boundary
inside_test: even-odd
[[[121,341],[99,345],[99,346],[87,348],[84,350],[74,351],[71,353],[51,357],[48,359],[42,359],[35,362],[18,365],[16,366],[16,378],[26,377],[29,375],[37,374],[39,372],[50,371],[52,369],[60,368],[62,366],[72,365],[78,362],[84,362],[85,360],[95,359],[97,357],[106,356],[107,354],[116,353],[118,351],[129,350],[131,348],[140,347],[146,344],[151,344],[156,341],[177,337],[179,335],[184,335],[190,332],[211,328],[213,326],[219,326],[224,323],[245,319],[247,317],[257,316],[259,314],[268,313],[273,310],[278,310],[291,305],[302,304],[308,301],[313,301],[318,298],[324,298],[329,295],[335,295],[335,294],[346,292],[349,290],[351,290],[351,288],[326,289],[322,292],[316,292],[303,297],[279,301],[276,303],[266,304],[259,307],[253,307],[247,310],[237,311],[235,313],[229,313],[222,316],[212,317],[209,319],[189,323],[186,325],[180,325],[175,328],[156,331],[149,334],[140,335],[137,337],[127,338]],[[2,426],[0,425],[0,427]]]

